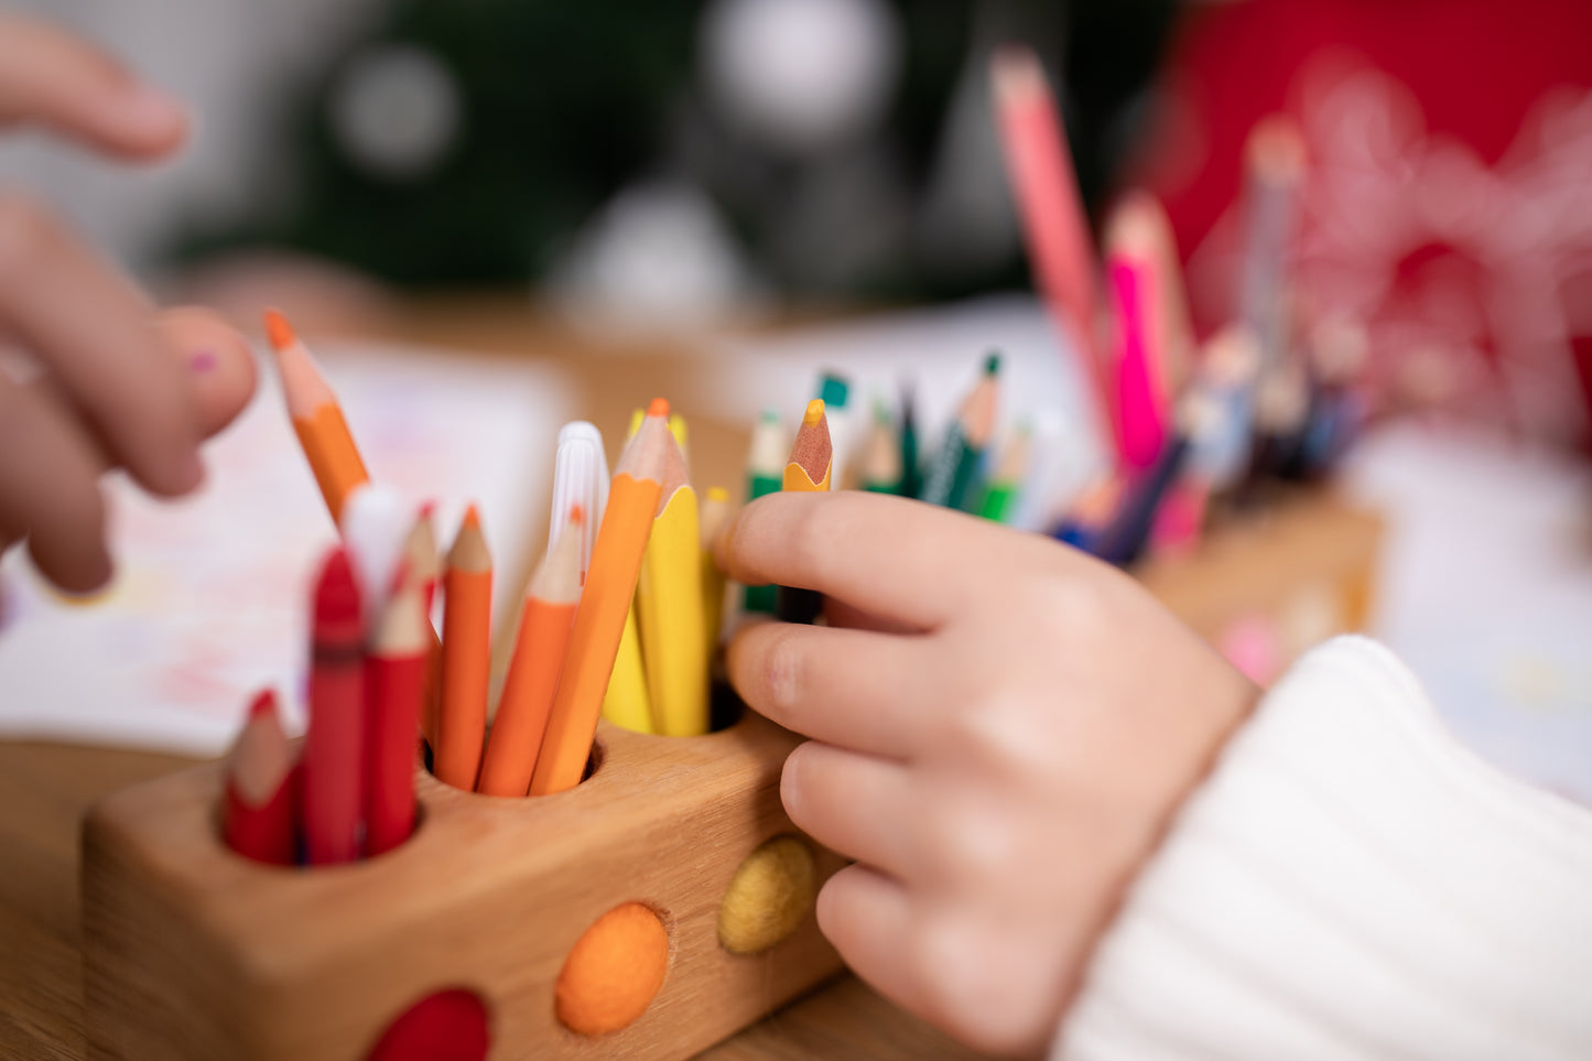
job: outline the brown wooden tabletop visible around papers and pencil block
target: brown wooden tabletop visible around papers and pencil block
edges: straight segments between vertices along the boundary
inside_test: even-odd
[[[360,331],[481,352],[544,355],[572,371],[584,393],[583,414],[605,425],[624,422],[630,406],[651,393],[670,393],[699,371],[688,343],[594,349],[589,339],[549,327],[521,296],[427,301]],[[615,379],[624,379],[622,392],[613,386]],[[699,481],[737,483],[743,435],[699,421],[691,429]],[[84,1056],[80,820],[102,795],[191,763],[172,755],[0,741],[0,1058]],[[976,1055],[844,977],[702,1056],[935,1061]]]

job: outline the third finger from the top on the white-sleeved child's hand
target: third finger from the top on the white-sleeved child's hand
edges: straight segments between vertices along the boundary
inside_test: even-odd
[[[796,827],[829,851],[898,879],[907,870],[917,808],[901,763],[809,741],[785,758],[780,800]]]

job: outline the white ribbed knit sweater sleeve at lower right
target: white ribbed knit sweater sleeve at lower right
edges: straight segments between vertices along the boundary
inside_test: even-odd
[[[1052,1058],[1592,1058],[1592,812],[1328,642],[1180,814]]]

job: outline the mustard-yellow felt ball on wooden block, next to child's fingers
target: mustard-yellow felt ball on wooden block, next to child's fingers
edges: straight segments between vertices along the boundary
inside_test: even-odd
[[[736,868],[718,906],[718,942],[731,954],[769,949],[796,930],[817,891],[812,848],[775,836]]]

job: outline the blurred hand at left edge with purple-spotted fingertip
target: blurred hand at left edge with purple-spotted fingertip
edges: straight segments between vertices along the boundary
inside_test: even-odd
[[[183,108],[45,22],[0,13],[0,129],[37,126],[129,161],[175,150]],[[253,392],[253,358],[218,317],[158,314],[148,296],[45,207],[0,188],[0,550],[21,537],[65,589],[110,578],[99,475],[154,494],[199,486],[199,441]]]

